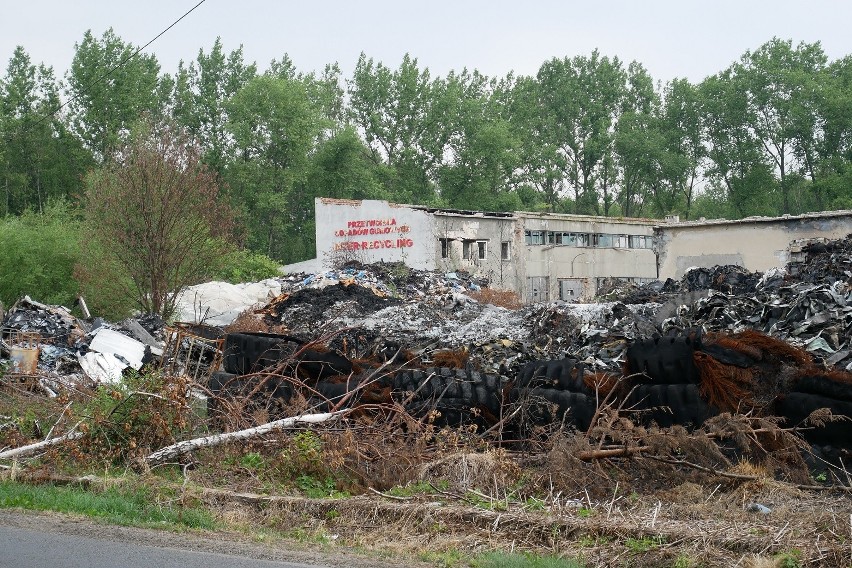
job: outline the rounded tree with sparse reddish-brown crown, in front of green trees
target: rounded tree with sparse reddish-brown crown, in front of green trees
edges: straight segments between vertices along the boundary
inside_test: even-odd
[[[217,270],[232,219],[200,147],[171,125],[143,122],[86,178],[91,256],[78,277],[95,288],[110,278],[143,312],[168,318],[181,288]]]

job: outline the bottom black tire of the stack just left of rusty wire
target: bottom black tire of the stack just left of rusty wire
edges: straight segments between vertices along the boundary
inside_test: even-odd
[[[638,385],[627,397],[626,408],[641,411],[643,423],[667,428],[678,424],[698,427],[719,411],[710,406],[698,385]]]

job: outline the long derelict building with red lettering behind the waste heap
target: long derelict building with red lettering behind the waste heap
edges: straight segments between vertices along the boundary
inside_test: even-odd
[[[665,220],[536,212],[482,212],[378,200],[317,198],[315,259],[285,267],[315,272],[347,260],[403,261],[464,270],[527,303],[594,296],[618,278],[680,278],[693,266],[765,271],[795,260],[798,243],[852,232],[852,211],[777,218]]]

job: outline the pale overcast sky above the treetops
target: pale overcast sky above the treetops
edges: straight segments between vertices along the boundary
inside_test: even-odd
[[[16,45],[63,76],[86,30],[112,27],[141,46],[198,0],[0,0],[3,74]],[[552,57],[595,48],[642,63],[655,80],[701,81],[773,36],[852,54],[846,0],[206,0],[155,41],[164,72],[209,51],[243,45],[260,70],[285,53],[300,71],[338,62],[344,78],[363,51],[396,68],[405,53],[435,75],[478,69],[535,74]]]

